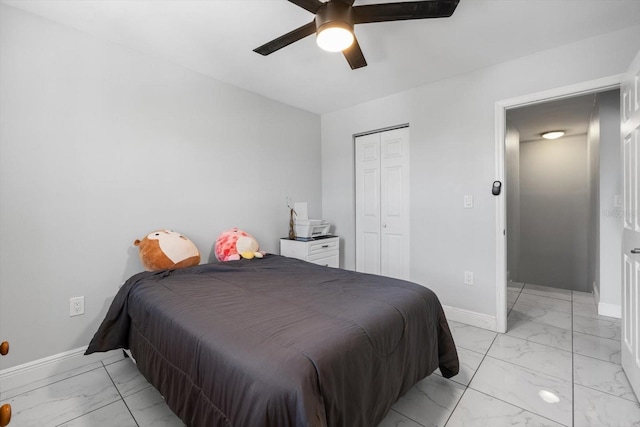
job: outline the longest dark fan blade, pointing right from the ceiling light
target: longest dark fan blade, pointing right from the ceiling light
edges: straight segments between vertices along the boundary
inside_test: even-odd
[[[424,0],[381,3],[353,7],[354,23],[403,21],[407,19],[448,18],[460,0]]]

